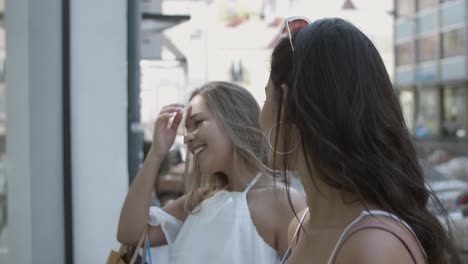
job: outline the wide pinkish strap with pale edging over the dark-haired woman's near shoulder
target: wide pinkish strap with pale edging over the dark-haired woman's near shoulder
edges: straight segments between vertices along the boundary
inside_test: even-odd
[[[418,242],[418,246],[415,246],[414,243],[411,243],[411,241],[409,240],[407,234],[405,234],[405,232],[401,229],[401,226],[399,226],[397,222],[392,221],[392,220],[385,221],[382,218],[376,218],[373,215],[383,215],[383,216],[386,216],[386,217],[390,217],[390,218],[396,220],[397,222],[402,223],[411,232],[411,235]],[[365,219],[363,219],[365,216],[369,216],[369,217],[366,217]],[[330,256],[330,259],[328,261],[329,264],[332,264],[332,263],[335,262],[336,254],[338,253],[338,251],[343,246],[344,242],[349,237],[351,237],[353,234],[355,234],[356,232],[358,232],[360,230],[370,229],[370,228],[384,230],[384,231],[387,231],[387,232],[393,234],[395,237],[397,237],[398,240],[400,240],[401,243],[403,243],[406,250],[408,250],[408,252],[410,253],[411,258],[413,259],[414,263],[418,263],[417,258],[416,258],[418,250],[421,250],[423,252],[423,254],[424,254],[424,257],[427,259],[424,248],[420,244],[420,242],[419,242],[418,238],[416,237],[416,235],[414,234],[413,230],[404,221],[402,221],[400,218],[398,218],[398,217],[396,217],[396,216],[394,216],[394,215],[392,215],[392,214],[390,214],[388,212],[383,212],[382,213],[382,212],[370,211],[370,212],[363,212],[358,219],[356,219],[358,221],[356,221],[352,226],[349,226],[350,227],[349,229],[345,229],[345,231],[343,232],[342,237],[340,238],[340,240],[338,240],[338,242],[337,242],[337,244],[335,246],[335,249],[333,250],[332,255]]]

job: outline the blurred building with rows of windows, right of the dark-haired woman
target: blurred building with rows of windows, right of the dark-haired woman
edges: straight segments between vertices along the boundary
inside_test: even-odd
[[[394,85],[424,152],[466,154],[466,0],[395,0]]]

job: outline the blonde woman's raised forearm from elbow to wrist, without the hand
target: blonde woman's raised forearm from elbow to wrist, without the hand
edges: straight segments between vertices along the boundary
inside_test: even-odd
[[[136,244],[147,224],[151,194],[163,158],[150,151],[130,186],[117,233],[117,239],[123,244]]]

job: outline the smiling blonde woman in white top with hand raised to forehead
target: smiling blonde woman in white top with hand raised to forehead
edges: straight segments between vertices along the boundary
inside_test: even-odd
[[[152,246],[169,244],[170,263],[278,263],[288,247],[287,228],[305,206],[301,194],[264,166],[267,145],[260,108],[242,87],[208,83],[185,108],[185,143],[193,155],[188,193],[162,209],[150,207],[152,186],[174,142],[184,106],[164,107],[153,145],[122,208],[118,239],[134,245],[150,224]],[[172,125],[169,120],[174,117]]]

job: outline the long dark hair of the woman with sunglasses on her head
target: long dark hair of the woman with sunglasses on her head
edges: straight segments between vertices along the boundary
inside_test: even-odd
[[[298,128],[309,172],[402,218],[429,263],[448,263],[448,255],[457,261],[450,232],[426,208],[431,196],[373,43],[351,23],[331,18],[301,29],[293,45],[294,52],[282,39],[275,47],[270,78],[284,108],[283,120],[281,109],[276,119]]]

